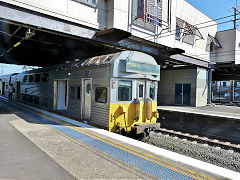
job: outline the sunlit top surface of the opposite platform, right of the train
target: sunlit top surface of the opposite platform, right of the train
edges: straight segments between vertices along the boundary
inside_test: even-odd
[[[187,107],[187,106],[158,106],[160,111],[180,112],[187,114],[195,114],[209,117],[219,117],[240,120],[240,107],[232,106],[202,106],[202,107]]]

